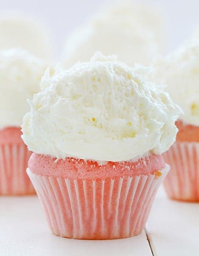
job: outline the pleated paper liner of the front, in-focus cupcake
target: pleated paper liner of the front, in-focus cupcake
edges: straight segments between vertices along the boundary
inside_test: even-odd
[[[140,175],[81,180],[37,175],[27,169],[48,225],[57,236],[118,239],[145,227],[156,191],[166,176]]]

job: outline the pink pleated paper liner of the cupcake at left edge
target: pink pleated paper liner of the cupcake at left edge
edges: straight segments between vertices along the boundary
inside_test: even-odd
[[[35,193],[26,174],[30,156],[25,144],[0,144],[0,195]]]

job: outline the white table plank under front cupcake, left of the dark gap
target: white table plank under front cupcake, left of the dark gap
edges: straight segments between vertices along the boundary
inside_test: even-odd
[[[145,232],[129,239],[65,239],[48,230],[36,196],[0,197],[0,255],[151,256]]]

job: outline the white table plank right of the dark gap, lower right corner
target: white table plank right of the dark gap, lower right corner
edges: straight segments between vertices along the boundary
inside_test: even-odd
[[[154,256],[199,255],[199,204],[172,201],[161,188],[146,232]]]

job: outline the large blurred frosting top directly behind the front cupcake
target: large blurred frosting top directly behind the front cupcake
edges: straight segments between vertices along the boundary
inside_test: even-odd
[[[128,1],[109,6],[67,38],[63,65],[89,61],[96,51],[116,54],[129,66],[149,65],[162,53],[163,27],[151,6]]]

